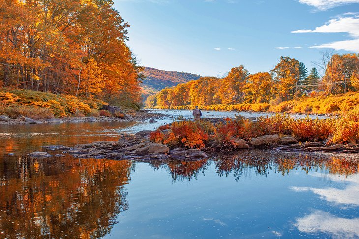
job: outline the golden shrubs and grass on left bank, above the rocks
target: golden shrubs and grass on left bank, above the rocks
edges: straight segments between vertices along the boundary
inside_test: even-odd
[[[107,103],[98,99],[84,99],[31,90],[0,89],[0,115],[7,115],[10,118],[19,116],[33,119],[121,116],[100,110],[103,104]]]

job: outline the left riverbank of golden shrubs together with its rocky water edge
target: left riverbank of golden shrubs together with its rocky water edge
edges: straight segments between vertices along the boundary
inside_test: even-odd
[[[160,116],[158,113],[143,112],[134,103],[116,107],[113,112],[102,109],[104,106],[107,103],[99,99],[0,89],[0,124],[122,121]]]

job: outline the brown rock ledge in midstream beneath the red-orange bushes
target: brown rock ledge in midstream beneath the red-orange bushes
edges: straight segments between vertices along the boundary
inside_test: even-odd
[[[252,138],[245,141],[239,138],[233,138],[231,148],[226,145],[209,142],[206,148],[170,149],[167,145],[153,143],[150,141],[152,131],[140,131],[135,135],[121,135],[118,141],[92,142],[90,144],[79,144],[73,148],[61,145],[42,146],[47,151],[61,151],[69,153],[76,158],[94,158],[94,159],[113,159],[113,160],[166,160],[176,159],[183,161],[196,161],[206,159],[215,152],[236,152],[240,150],[267,149],[280,150],[286,152],[315,152],[315,153],[346,153],[358,155],[358,144],[336,144],[326,146],[326,142],[306,142],[300,143],[294,137],[289,135],[265,135]],[[235,145],[235,146],[234,146]],[[234,146],[234,147],[233,147]],[[30,157],[47,158],[60,157],[62,154],[51,155],[48,152],[33,152]]]

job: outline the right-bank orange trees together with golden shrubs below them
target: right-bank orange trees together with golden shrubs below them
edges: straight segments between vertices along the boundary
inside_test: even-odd
[[[269,72],[250,74],[243,65],[224,77],[201,77],[165,88],[146,99],[147,108],[345,114],[359,106],[359,55],[322,53],[317,68],[280,57]]]

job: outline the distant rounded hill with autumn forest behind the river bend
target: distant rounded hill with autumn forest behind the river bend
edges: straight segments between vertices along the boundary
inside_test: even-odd
[[[146,79],[141,84],[144,99],[149,95],[156,94],[166,87],[176,86],[200,78],[199,75],[192,73],[163,71],[151,67],[145,67],[143,73],[146,76]]]

